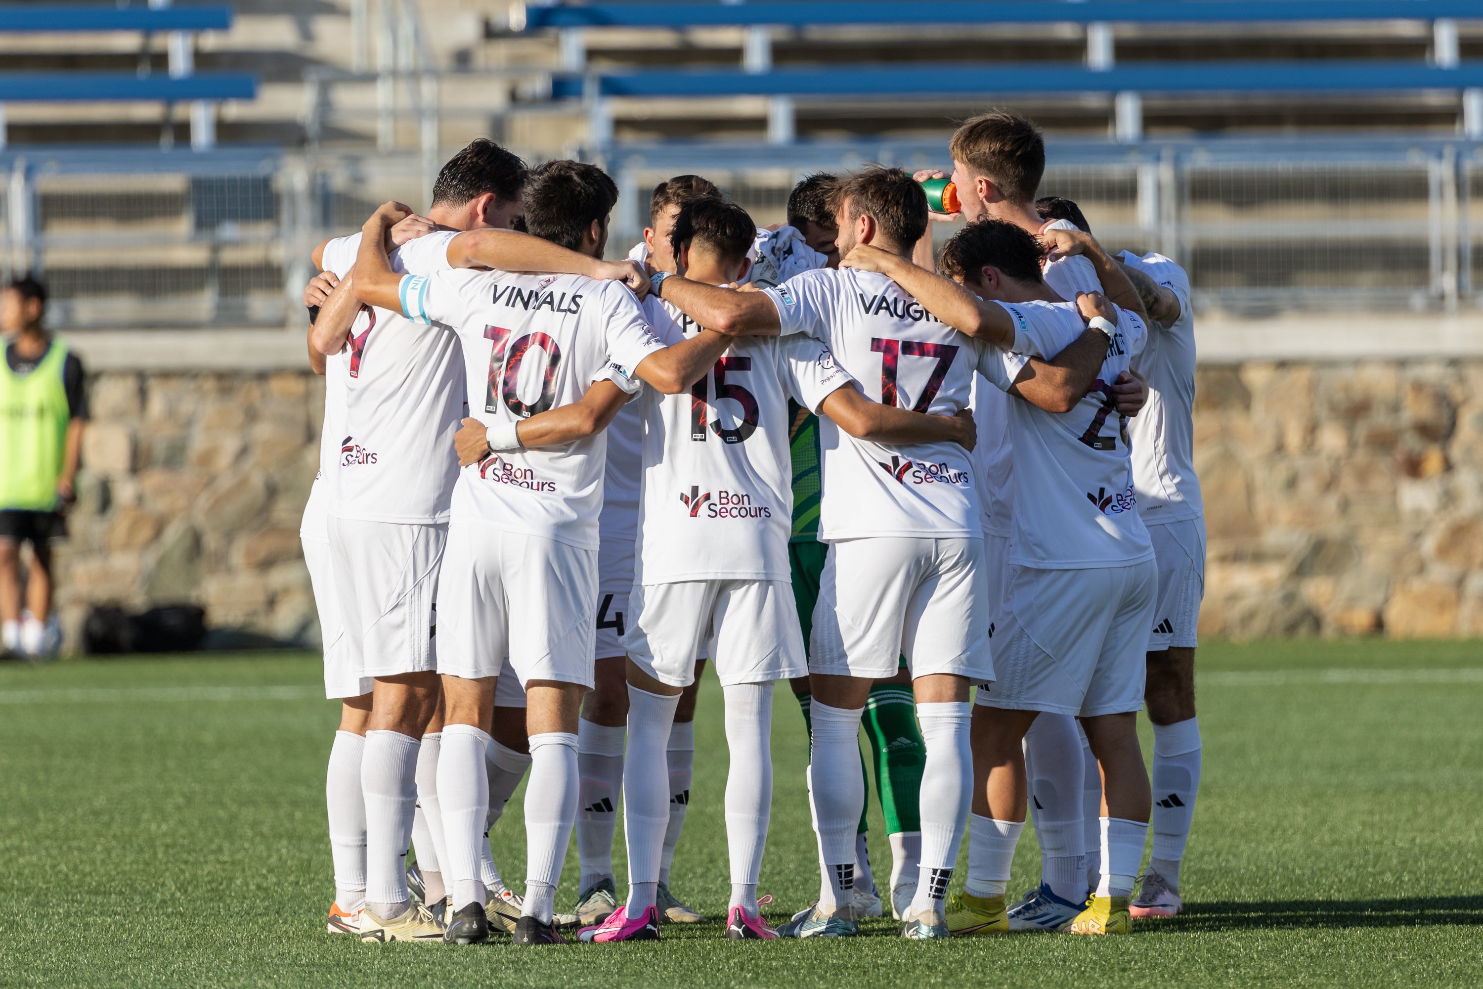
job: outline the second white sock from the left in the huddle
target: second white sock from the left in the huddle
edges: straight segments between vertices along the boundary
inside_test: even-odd
[[[368,731],[360,756],[366,801],[366,906],[381,919],[400,916],[406,891],[406,845],[417,810],[417,738],[399,731]]]

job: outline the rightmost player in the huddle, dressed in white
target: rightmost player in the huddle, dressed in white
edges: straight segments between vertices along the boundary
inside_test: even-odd
[[[1091,257],[1099,273],[1111,267],[1090,231],[1054,237],[1060,254]],[[1118,261],[1149,316],[1148,345],[1133,360],[1133,369],[1148,381],[1148,409],[1133,420],[1129,436],[1137,510],[1158,560],[1143,698],[1154,724],[1154,854],[1129,912],[1134,918],[1176,916],[1183,909],[1179,863],[1200,789],[1201,755],[1194,661],[1206,529],[1194,469],[1194,313],[1189,276],[1178,264],[1158,254],[1139,257],[1129,251]]]

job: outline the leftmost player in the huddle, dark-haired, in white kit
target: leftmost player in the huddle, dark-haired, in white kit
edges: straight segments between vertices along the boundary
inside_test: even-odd
[[[409,225],[507,227],[521,212],[523,175],[518,157],[475,141],[439,172],[427,221]],[[320,245],[317,267],[344,279],[360,239]],[[436,252],[436,243],[409,240],[396,249],[394,262]],[[433,602],[457,479],[449,448],[463,412],[458,344],[443,329],[372,307],[360,307],[349,326],[322,316],[310,340],[326,356],[346,351],[346,418],[343,431],[331,434],[338,448],[326,491],[332,581],[359,676],[375,681],[369,716],[343,707],[346,734],[356,734],[360,719],[365,728],[359,778],[366,906],[357,931],[366,942],[437,942],[442,921],[412,906],[403,863],[421,738],[437,704]],[[356,747],[341,734],[337,743]],[[354,752],[332,753],[331,765],[343,781],[341,799],[351,805]]]

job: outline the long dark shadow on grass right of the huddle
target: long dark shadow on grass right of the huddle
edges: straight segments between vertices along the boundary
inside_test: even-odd
[[[1140,922],[1137,930],[1154,930],[1154,924]],[[1437,925],[1483,925],[1483,896],[1189,903],[1182,915],[1157,921],[1158,930],[1172,934],[1259,928]]]

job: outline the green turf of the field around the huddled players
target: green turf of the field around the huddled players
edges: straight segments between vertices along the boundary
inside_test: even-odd
[[[658,945],[540,950],[363,946],[323,933],[332,897],[323,765],[337,713],[294,698],[319,682],[311,657],[4,666],[0,985],[1483,983],[1483,684],[1264,687],[1231,676],[1483,667],[1480,645],[1209,645],[1200,664],[1223,679],[1200,694],[1206,770],[1183,918],[1124,939],[951,943],[903,942],[888,921],[868,922],[871,937],[854,940],[733,943],[716,922],[667,927]],[[295,685],[288,698],[236,701],[141,692]],[[125,692],[99,692],[110,688]],[[728,891],[719,710],[710,679],[672,884],[710,915]],[[774,758],[762,891],[777,899],[776,922],[817,890],[802,719],[786,694]],[[518,879],[515,804],[495,835],[500,864]],[[888,851],[875,836],[884,872]],[[1035,867],[1026,829],[1011,890],[1032,885]],[[575,881],[574,844],[561,909],[571,909]]]

